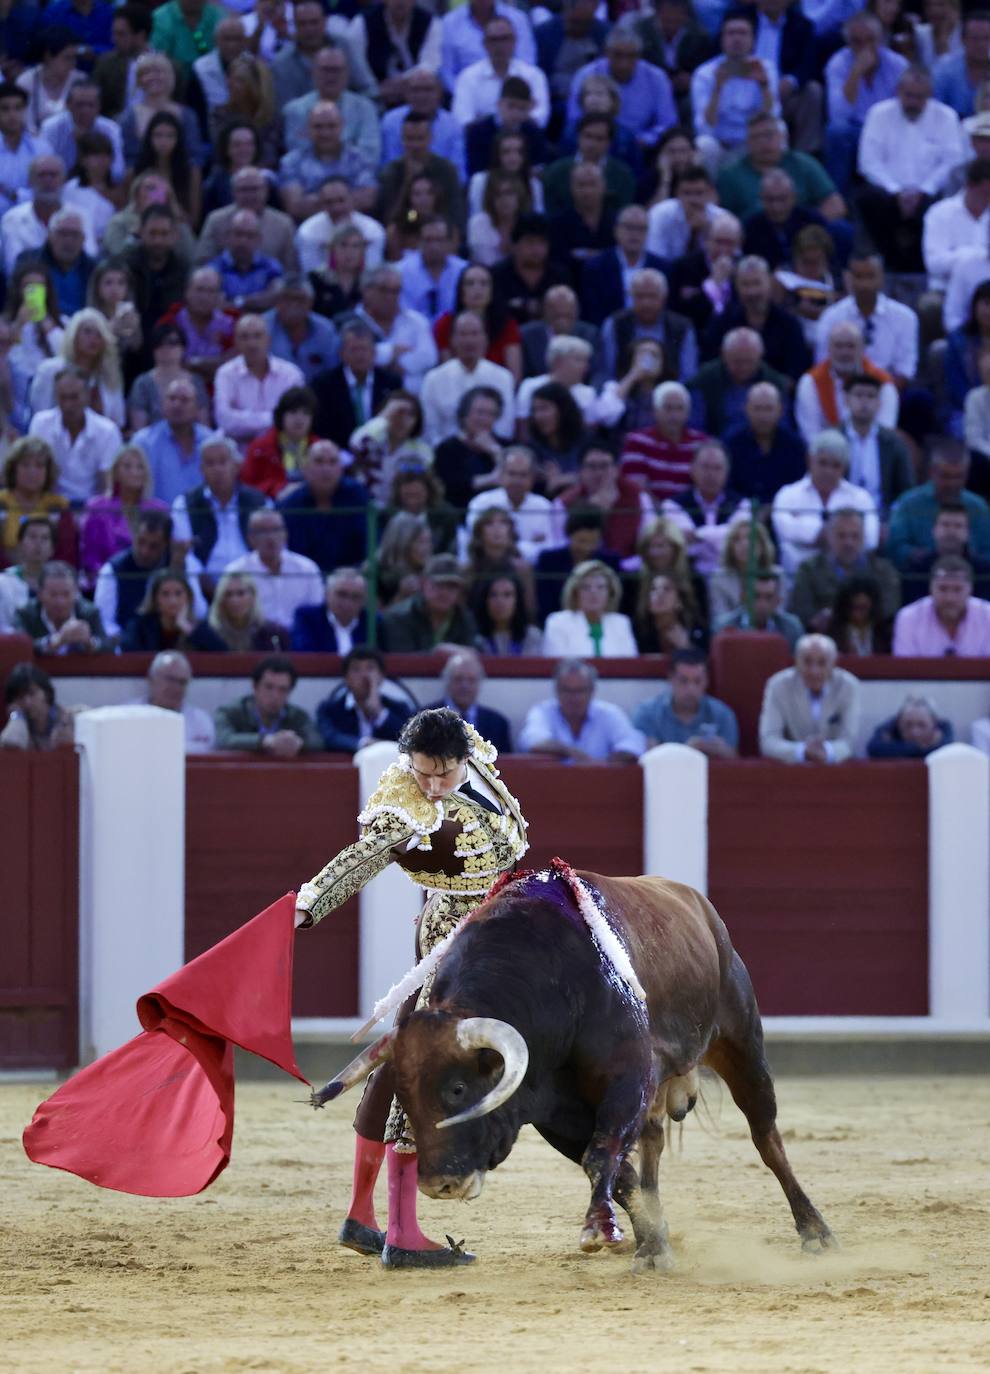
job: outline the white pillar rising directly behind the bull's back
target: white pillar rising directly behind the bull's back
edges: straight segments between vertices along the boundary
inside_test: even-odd
[[[687,745],[658,745],[643,767],[643,872],[709,888],[709,760]]]

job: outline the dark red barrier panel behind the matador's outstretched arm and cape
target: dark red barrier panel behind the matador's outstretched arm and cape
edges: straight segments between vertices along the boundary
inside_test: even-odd
[[[189,757],[185,769],[185,958],[312,878],[357,838],[347,763]],[[357,1015],[357,901],[295,960],[298,1017]]]

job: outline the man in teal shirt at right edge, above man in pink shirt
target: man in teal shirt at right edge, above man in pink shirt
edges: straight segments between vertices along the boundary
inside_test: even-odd
[[[990,558],[990,506],[967,491],[969,453],[953,440],[941,440],[928,459],[928,481],[905,492],[890,513],[887,556],[902,573],[925,567],[935,548],[935,521],[943,506],[961,504],[969,515],[969,548]]]

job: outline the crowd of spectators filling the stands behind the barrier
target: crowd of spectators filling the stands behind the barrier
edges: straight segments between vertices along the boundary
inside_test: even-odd
[[[626,757],[735,749],[704,655],[763,629],[763,750],[827,761],[836,651],[990,654],[989,12],[15,0],[0,69],[41,660],[346,655],[319,721],[283,666],[216,723],[281,753],[393,730],[382,650],[542,653],[525,741]],[[623,734],[589,665],[638,654]]]

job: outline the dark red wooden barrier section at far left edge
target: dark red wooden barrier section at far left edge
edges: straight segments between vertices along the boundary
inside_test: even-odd
[[[0,1068],[78,1062],[80,764],[0,750]]]

